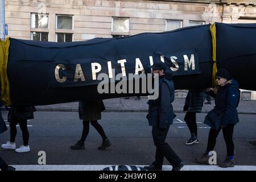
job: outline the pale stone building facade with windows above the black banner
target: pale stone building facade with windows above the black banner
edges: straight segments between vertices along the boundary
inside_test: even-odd
[[[10,37],[51,42],[162,32],[213,22],[256,23],[256,0],[6,0]],[[248,98],[256,99],[253,92]],[[250,96],[249,96],[250,95]]]

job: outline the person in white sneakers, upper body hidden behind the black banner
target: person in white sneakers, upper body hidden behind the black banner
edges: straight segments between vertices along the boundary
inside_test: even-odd
[[[27,119],[34,119],[34,106],[11,106],[8,113],[8,122],[10,123],[10,142],[7,141],[1,147],[5,149],[15,149],[15,152],[29,152],[30,146],[28,139],[30,134],[27,129]],[[16,148],[15,138],[17,134],[16,125],[19,123],[22,130],[23,145]]]

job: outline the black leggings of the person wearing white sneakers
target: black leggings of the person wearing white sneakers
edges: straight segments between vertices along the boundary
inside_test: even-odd
[[[17,134],[16,125],[18,123],[19,123],[20,129],[22,130],[23,145],[27,146],[28,138],[30,137],[30,134],[28,133],[28,130],[27,130],[27,119],[15,118],[15,119],[13,119],[13,121],[11,121],[11,123],[10,123],[10,134],[11,134],[10,142],[15,142],[15,137]]]

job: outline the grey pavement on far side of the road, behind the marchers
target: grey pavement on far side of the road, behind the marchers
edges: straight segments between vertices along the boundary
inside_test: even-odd
[[[104,100],[106,107],[105,112],[136,112],[147,113],[148,111],[148,97],[141,97],[141,100],[135,100],[136,97],[112,98]],[[172,102],[175,113],[184,113],[183,106],[185,98],[175,98]],[[68,102],[63,104],[42,105],[36,106],[36,111],[78,111],[79,102]],[[212,104],[204,104],[202,113],[208,113],[214,107],[214,100]],[[5,110],[5,107],[1,107]],[[240,100],[238,105],[238,114],[256,114],[256,100]]]

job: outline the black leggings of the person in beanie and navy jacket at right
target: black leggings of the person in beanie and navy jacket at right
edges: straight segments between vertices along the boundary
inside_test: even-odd
[[[227,155],[233,156],[234,155],[234,142],[233,142],[234,125],[232,124],[226,127],[222,127],[222,128],[220,127],[220,129],[218,130],[210,129],[208,144],[207,144],[207,152],[213,151],[213,148],[216,144],[216,138],[218,137],[218,133],[220,133],[221,129],[222,129],[222,133],[226,143]]]

